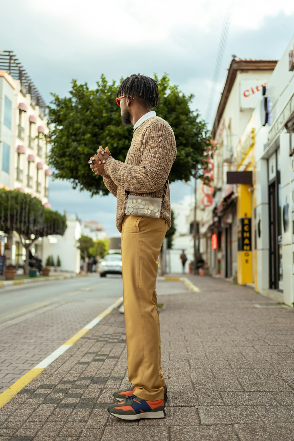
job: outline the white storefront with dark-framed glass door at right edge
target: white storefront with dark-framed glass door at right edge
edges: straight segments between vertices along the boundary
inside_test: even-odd
[[[294,302],[294,37],[268,82],[256,136],[257,291]]]

